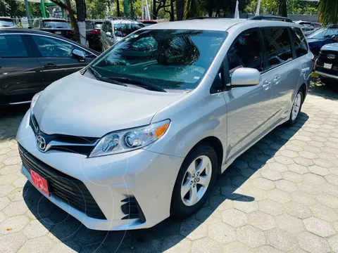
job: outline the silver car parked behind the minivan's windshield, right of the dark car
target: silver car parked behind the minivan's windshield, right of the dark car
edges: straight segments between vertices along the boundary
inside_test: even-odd
[[[142,22],[131,18],[109,18],[104,20],[101,27],[102,51],[128,36],[132,32],[144,27]]]

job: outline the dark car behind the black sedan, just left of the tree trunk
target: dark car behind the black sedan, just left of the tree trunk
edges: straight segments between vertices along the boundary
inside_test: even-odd
[[[67,20],[61,18],[37,18],[33,22],[33,29],[58,34],[67,39],[73,39],[75,34]]]

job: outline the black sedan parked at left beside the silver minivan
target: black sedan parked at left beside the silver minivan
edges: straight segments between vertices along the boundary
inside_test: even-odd
[[[92,49],[48,32],[0,29],[0,105],[30,102],[35,93],[97,56]]]

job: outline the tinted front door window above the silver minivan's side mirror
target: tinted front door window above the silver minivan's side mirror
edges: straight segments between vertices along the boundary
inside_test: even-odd
[[[263,52],[258,31],[239,36],[227,52],[230,73],[237,67],[252,67],[263,71]]]

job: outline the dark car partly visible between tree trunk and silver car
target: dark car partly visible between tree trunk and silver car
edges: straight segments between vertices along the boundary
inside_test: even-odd
[[[101,27],[104,20],[86,20],[86,37],[89,48],[101,51]]]

